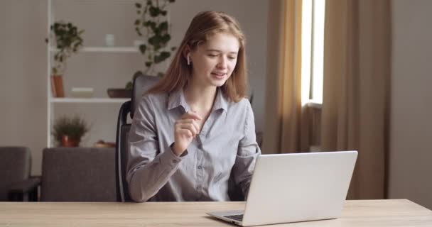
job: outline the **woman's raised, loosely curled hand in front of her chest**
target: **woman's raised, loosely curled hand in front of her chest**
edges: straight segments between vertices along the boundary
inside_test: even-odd
[[[198,126],[197,120],[202,120],[198,114],[195,112],[186,112],[180,119],[175,121],[175,141],[172,147],[175,155],[180,156],[183,154],[193,138],[200,133],[200,126]]]

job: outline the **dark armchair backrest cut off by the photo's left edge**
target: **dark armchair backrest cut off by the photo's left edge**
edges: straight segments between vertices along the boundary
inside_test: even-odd
[[[0,201],[7,201],[9,187],[28,179],[30,171],[30,148],[0,147]]]

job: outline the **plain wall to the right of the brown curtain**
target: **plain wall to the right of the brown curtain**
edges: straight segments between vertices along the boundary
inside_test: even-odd
[[[432,209],[432,1],[392,4],[389,197]]]

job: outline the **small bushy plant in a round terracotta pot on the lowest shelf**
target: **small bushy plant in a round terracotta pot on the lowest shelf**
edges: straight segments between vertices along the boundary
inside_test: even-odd
[[[74,116],[61,116],[53,125],[53,137],[61,147],[74,148],[80,145],[82,136],[89,131],[90,127],[84,118]]]

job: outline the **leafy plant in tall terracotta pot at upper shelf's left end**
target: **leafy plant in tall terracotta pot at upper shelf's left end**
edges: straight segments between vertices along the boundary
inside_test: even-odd
[[[58,21],[50,26],[50,31],[52,32],[51,35],[54,36],[56,48],[53,67],[51,68],[51,89],[53,96],[64,97],[62,75],[66,70],[66,60],[82,47],[81,35],[84,30],[78,30],[72,23]],[[49,44],[48,39],[45,42]]]

